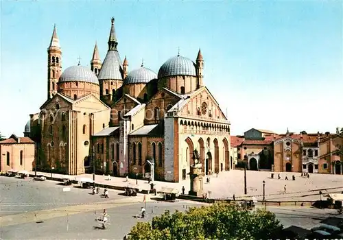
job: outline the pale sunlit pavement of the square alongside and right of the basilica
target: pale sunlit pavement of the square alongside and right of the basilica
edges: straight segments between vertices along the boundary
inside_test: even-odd
[[[50,176],[50,173],[44,173]],[[262,200],[263,195],[263,180],[265,181],[265,197],[270,201],[312,201],[319,200],[319,191],[323,194],[341,193],[343,191],[343,176],[332,174],[310,173],[310,178],[303,178],[301,173],[280,173],[281,179],[277,179],[278,173],[274,174],[274,178],[270,178],[270,171],[246,171],[247,176],[247,192],[248,195],[257,195],[257,199]],[[292,180],[292,175],[296,176],[296,180]],[[58,177],[58,174],[53,174]],[[92,178],[92,174],[83,174],[82,176]],[[285,180],[285,176],[289,180]],[[62,176],[61,176],[62,177]],[[106,180],[107,176],[95,176],[95,182],[99,184],[110,184],[118,187],[126,187],[128,182],[125,178],[111,177],[111,180]],[[135,179],[129,179],[130,183],[136,184]],[[204,179],[206,182],[206,179]],[[138,180],[141,189],[150,189],[150,185],[146,180]],[[182,186],[185,186],[185,193],[188,193],[190,188],[190,180],[182,182],[155,182],[156,189],[161,187],[173,187],[181,192]],[[286,185],[286,193],[284,187]],[[244,196],[244,171],[232,170],[219,173],[218,177],[211,176],[210,183],[204,183],[204,191],[211,198],[232,198]]]

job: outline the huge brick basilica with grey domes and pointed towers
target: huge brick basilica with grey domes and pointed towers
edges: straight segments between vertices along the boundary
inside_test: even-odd
[[[111,19],[106,56],[95,44],[90,69],[62,71],[56,27],[47,57],[47,100],[24,133],[36,143],[38,170],[179,182],[195,150],[205,174],[235,166],[230,121],[204,85],[200,49],[195,61],[178,54],[158,73],[143,64],[129,71]]]

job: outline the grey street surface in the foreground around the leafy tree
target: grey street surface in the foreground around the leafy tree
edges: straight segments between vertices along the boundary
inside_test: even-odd
[[[238,171],[237,171],[238,173]],[[72,186],[64,192],[58,182],[46,180],[34,182],[31,178],[0,177],[0,219],[2,239],[122,239],[137,221],[150,221],[165,210],[185,211],[189,206],[201,203],[177,200],[161,202],[154,195],[126,197],[122,191],[110,190],[110,199],[91,195],[90,189]],[[219,181],[220,178],[217,178]],[[213,178],[214,184],[215,180]],[[136,219],[141,206],[147,209],[147,219]],[[263,208],[265,206],[258,206]],[[106,208],[110,215],[108,229],[99,229],[95,221]],[[343,217],[331,209],[307,207],[272,207],[268,210],[285,227],[295,225],[313,228],[327,217]]]

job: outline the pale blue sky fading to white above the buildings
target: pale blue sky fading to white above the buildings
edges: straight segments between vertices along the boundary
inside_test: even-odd
[[[62,67],[102,60],[115,16],[121,59],[158,72],[168,58],[204,56],[204,83],[231,121],[283,133],[343,127],[342,1],[1,2],[0,132],[23,135],[47,97],[56,23]]]

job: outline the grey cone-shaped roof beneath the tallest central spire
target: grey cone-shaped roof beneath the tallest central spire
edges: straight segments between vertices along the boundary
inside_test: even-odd
[[[97,77],[99,80],[123,80],[121,60],[118,51],[108,51]]]

